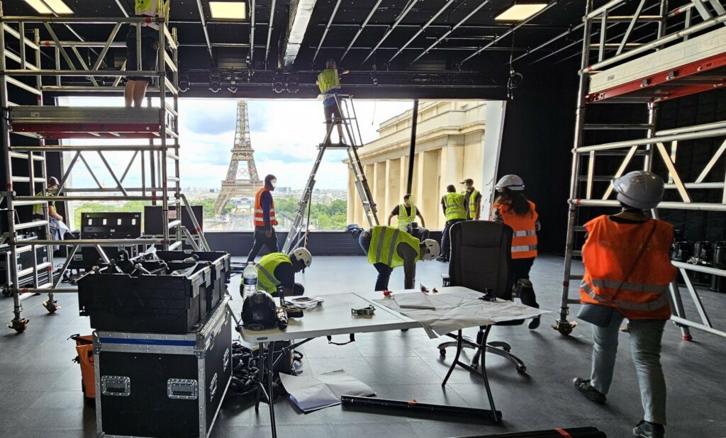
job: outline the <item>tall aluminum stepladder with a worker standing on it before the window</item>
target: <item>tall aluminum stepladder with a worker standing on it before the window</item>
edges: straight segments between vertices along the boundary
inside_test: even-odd
[[[293,220],[293,225],[290,226],[290,232],[287,234],[285,245],[282,247],[282,252],[289,254],[294,249],[306,246],[308,233],[309,233],[309,208],[310,199],[315,187],[315,175],[322,157],[325,151],[330,150],[345,150],[348,153],[348,160],[351,162],[351,170],[355,177],[356,190],[358,195],[363,202],[363,210],[365,211],[366,218],[369,226],[378,225],[378,215],[375,202],[373,201],[373,195],[371,194],[370,187],[368,186],[368,180],[363,172],[363,165],[360,162],[358,156],[358,148],[363,145],[361,138],[360,128],[358,126],[358,119],[356,118],[356,110],[353,104],[353,99],[348,94],[335,94],[335,103],[340,109],[340,118],[337,117],[334,123],[330,124],[325,133],[325,139],[318,145],[318,154],[313,163],[313,169],[310,173],[303,194],[301,195],[300,202],[298,202],[298,211]],[[346,137],[347,144],[330,144],[330,134],[335,128],[335,122],[340,121],[343,125],[344,136]],[[342,141],[343,139],[341,139]],[[306,210],[307,213],[306,213]]]

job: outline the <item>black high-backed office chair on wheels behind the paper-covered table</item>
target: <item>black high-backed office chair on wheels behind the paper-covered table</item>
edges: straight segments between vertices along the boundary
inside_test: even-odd
[[[513,278],[509,275],[509,263],[512,235],[512,228],[509,226],[487,220],[467,220],[454,224],[449,231],[452,248],[449,275],[444,276],[444,286],[464,286],[482,293],[485,288],[492,289],[497,298],[511,300]],[[497,326],[518,326],[522,323],[524,320],[507,321],[497,323]],[[484,371],[478,370],[478,363],[485,331],[489,334],[489,327],[479,327],[476,342],[467,336],[461,339],[462,347],[476,350],[471,364],[464,366],[469,371]],[[457,339],[457,335],[448,336]],[[439,344],[439,352],[442,356],[446,355],[446,348],[457,347],[458,342],[459,339]],[[486,352],[507,358],[516,365],[517,371],[525,373],[526,366],[511,350],[512,347],[506,342],[486,343]]]

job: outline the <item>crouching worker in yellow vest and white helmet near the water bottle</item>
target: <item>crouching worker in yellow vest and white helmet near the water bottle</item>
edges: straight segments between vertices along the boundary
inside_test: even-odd
[[[302,284],[295,283],[295,273],[309,268],[312,255],[306,248],[298,248],[287,255],[284,252],[272,252],[262,257],[255,264],[259,289],[277,297],[277,288],[282,286],[285,297],[297,297],[305,293]],[[240,291],[244,287],[240,284]]]

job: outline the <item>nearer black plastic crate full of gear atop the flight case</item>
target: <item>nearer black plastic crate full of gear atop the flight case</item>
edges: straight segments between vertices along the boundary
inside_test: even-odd
[[[147,270],[159,262],[142,262]],[[211,268],[168,263],[170,270],[195,267],[186,276],[115,273],[109,267],[78,281],[78,309],[91,328],[109,331],[186,334],[211,307],[205,296]],[[152,269],[150,269],[152,268]]]

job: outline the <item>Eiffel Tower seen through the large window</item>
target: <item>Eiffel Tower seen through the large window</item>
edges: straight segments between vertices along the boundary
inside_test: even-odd
[[[250,144],[250,117],[247,101],[237,102],[237,129],[234,132],[232,160],[229,161],[227,178],[222,181],[222,189],[214,202],[214,215],[219,216],[229,199],[234,197],[253,197],[262,187],[255,167],[254,150]]]

